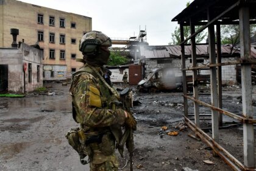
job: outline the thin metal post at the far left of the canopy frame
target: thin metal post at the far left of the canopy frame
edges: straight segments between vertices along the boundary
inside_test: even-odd
[[[184,40],[184,27],[182,24],[180,24],[180,40]],[[185,45],[181,44],[181,58],[182,58],[182,69],[186,68],[186,58],[185,58]],[[183,76],[183,94],[187,96],[187,80],[186,80],[186,71],[182,70],[182,76]],[[184,115],[188,117],[188,100],[187,98],[183,96],[183,107],[184,107]]]

